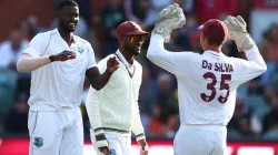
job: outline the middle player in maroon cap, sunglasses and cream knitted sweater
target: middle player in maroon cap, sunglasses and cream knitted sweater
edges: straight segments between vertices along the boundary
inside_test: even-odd
[[[148,154],[148,145],[140,120],[138,95],[142,81],[142,66],[135,60],[149,33],[132,22],[126,21],[117,28],[120,43],[116,55],[120,68],[112,74],[108,84],[100,91],[90,87],[87,111],[91,124],[91,142],[98,155],[115,151],[117,155],[131,155],[131,132]],[[107,70],[107,61],[98,63],[100,72]]]

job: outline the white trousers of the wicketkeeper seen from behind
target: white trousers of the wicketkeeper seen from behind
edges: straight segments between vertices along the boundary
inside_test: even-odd
[[[181,125],[173,141],[175,155],[224,155],[226,126]]]

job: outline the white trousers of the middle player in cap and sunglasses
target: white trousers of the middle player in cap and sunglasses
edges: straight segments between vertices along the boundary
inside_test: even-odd
[[[91,142],[92,145],[96,143],[95,133],[91,130]],[[130,136],[123,136],[116,132],[109,132],[105,133],[110,149],[115,149],[117,155],[131,155],[131,137]],[[98,147],[93,145],[93,148],[97,153],[97,155],[103,155],[103,153],[99,152]]]

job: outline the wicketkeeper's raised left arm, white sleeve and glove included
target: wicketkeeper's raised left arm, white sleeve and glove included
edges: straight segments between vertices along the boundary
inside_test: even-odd
[[[189,52],[170,52],[165,50],[163,43],[168,42],[171,31],[181,28],[186,23],[182,9],[178,4],[170,4],[159,13],[160,21],[152,30],[147,58],[158,66],[181,76],[186,68],[186,63],[191,58]]]

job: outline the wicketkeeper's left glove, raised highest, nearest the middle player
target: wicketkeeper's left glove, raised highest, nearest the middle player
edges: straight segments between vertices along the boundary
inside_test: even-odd
[[[170,4],[159,12],[159,19],[152,33],[162,35],[165,42],[170,40],[170,34],[173,29],[181,28],[186,24],[183,11],[177,3]]]

